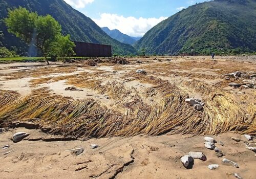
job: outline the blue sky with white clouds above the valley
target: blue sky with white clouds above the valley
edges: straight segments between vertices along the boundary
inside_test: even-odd
[[[140,37],[160,21],[202,0],[64,0],[100,27]]]

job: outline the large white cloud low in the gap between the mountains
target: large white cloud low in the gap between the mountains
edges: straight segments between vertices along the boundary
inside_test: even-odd
[[[118,29],[120,32],[134,36],[142,37],[148,30],[156,26],[160,21],[167,17],[159,18],[135,18],[124,17],[117,14],[103,13],[99,19],[93,19],[100,27],[108,27],[110,30]]]

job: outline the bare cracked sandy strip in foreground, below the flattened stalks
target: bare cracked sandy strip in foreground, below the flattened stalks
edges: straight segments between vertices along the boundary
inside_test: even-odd
[[[15,132],[25,131],[30,136],[19,143],[10,138]],[[242,139],[241,142],[231,137]],[[204,147],[203,136],[163,135],[157,137],[135,136],[132,138],[103,138],[87,141],[31,141],[40,138],[56,138],[39,130],[11,129],[0,134],[1,178],[235,178],[230,173],[239,173],[243,178],[255,178],[254,152],[245,148],[246,139],[234,133],[214,136],[216,144],[226,156],[223,158],[238,163],[239,168],[222,163],[216,152]],[[99,147],[91,149],[90,144]],[[70,149],[84,148],[78,156]],[[8,154],[5,152],[11,151]],[[202,151],[207,161],[195,159],[193,168],[186,169],[180,158],[189,151]],[[217,170],[208,169],[210,164],[219,164]],[[77,170],[77,171],[76,171]]]

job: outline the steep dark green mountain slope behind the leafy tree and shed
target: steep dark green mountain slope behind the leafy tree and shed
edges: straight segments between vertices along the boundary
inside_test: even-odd
[[[63,0],[0,0],[0,31],[4,33],[3,45],[18,53],[27,52],[27,46],[14,35],[7,32],[3,19],[8,14],[8,8],[25,7],[39,15],[52,15],[61,25],[62,34],[70,34],[71,40],[100,44],[111,44],[113,53],[134,54],[136,50],[129,44],[124,44],[111,38],[103,32],[94,21],[73,9]]]

